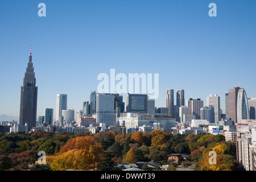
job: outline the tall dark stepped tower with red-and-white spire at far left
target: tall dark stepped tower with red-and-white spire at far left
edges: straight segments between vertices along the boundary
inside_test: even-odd
[[[36,126],[36,107],[38,102],[38,87],[32,61],[31,46],[27,69],[20,90],[19,125],[28,123],[28,131]]]

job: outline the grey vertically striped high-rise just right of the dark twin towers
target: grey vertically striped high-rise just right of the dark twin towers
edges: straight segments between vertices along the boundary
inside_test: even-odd
[[[196,119],[200,119],[200,109],[204,106],[204,101],[201,101],[200,98],[197,100],[193,100],[193,98],[189,98],[187,100],[187,106],[189,107],[189,115],[196,115]]]

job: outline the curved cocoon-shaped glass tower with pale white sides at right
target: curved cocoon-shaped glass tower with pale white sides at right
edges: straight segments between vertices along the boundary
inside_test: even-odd
[[[237,122],[240,123],[242,119],[249,119],[249,106],[245,89],[241,88],[237,94]]]

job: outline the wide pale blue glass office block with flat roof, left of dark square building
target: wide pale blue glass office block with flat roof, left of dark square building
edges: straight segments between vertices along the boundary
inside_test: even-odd
[[[106,127],[117,122],[117,110],[114,110],[114,95],[97,93],[96,123],[105,123]]]

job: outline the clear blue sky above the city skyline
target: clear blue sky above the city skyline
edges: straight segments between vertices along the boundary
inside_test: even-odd
[[[38,4],[46,4],[46,17]],[[209,3],[217,17],[210,17]],[[256,97],[256,1],[26,0],[0,2],[0,114],[19,116],[32,46],[38,115],[56,110],[56,94],[82,109],[100,73],[159,73],[157,107],[166,89],[185,100],[221,97],[234,85]],[[123,95],[125,96],[125,94]],[[124,98],[124,100],[126,100]]]

